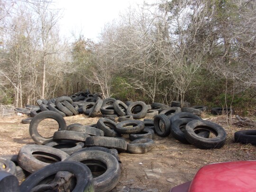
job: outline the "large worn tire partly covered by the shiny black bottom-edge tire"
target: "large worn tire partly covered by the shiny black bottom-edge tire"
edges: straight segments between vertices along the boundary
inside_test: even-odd
[[[79,161],[85,165],[90,165],[90,161],[100,161],[106,166],[106,172],[93,178],[95,192],[110,192],[118,183],[121,170],[118,160],[110,153],[92,150],[82,151],[70,156],[67,160]]]

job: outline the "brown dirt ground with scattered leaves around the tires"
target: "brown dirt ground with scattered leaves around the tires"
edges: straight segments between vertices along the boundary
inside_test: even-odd
[[[29,124],[22,124],[26,115],[17,114],[0,118],[0,155],[18,154],[19,149],[34,141],[29,135]],[[66,124],[91,125],[99,117],[85,115],[64,117]],[[235,118],[234,118],[235,119]],[[227,141],[221,149],[201,150],[175,140],[172,135],[161,138],[155,135],[156,146],[145,154],[120,153],[122,173],[119,184],[113,192],[169,192],[179,184],[191,181],[194,174],[204,165],[223,161],[256,159],[256,146],[234,142],[234,133],[255,127],[227,125],[225,116],[209,117],[210,121],[222,125],[227,131]],[[235,121],[235,120],[234,120]],[[44,120],[39,133],[51,136],[57,131],[55,120]]]

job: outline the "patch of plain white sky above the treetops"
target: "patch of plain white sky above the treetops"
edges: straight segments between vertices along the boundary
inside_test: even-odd
[[[97,41],[104,24],[119,17],[130,5],[143,4],[144,0],[54,0],[56,8],[63,8],[60,33],[74,39],[72,33]],[[146,0],[148,1],[148,0]],[[152,1],[152,0],[151,0]]]

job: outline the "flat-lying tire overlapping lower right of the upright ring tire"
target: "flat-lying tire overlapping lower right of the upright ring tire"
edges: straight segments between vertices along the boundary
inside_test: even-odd
[[[85,134],[83,132],[76,132],[76,131],[56,131],[53,136],[54,141],[74,141],[74,142],[85,142],[86,138],[90,137],[89,134]]]

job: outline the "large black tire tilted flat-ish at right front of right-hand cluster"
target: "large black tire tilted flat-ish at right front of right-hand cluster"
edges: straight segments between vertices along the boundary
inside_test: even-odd
[[[200,126],[200,129],[202,130],[207,130],[215,134],[216,137],[204,138],[197,135],[195,130],[198,129],[198,126]],[[225,129],[216,123],[206,120],[194,120],[186,125],[185,138],[192,145],[200,149],[219,149],[223,147],[227,138],[227,134]]]

